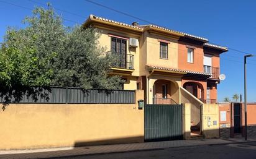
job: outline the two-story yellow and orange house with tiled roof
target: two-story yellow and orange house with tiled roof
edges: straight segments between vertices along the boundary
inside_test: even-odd
[[[219,54],[226,47],[157,25],[124,24],[90,15],[84,27],[101,32],[99,45],[120,62],[109,75],[122,75],[124,90],[144,90],[145,103],[181,103],[181,90],[203,103],[217,102]]]

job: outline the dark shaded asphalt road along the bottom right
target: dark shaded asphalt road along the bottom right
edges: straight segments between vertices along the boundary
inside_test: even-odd
[[[139,152],[109,153],[99,155],[85,155],[78,157],[62,157],[62,159],[256,159],[256,142],[247,144],[229,145],[203,145],[198,147],[165,148],[160,150],[149,150]]]

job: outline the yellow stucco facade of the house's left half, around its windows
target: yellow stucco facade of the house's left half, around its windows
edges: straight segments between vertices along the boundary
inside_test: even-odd
[[[136,38],[139,40],[137,47],[129,47],[129,40],[126,42],[127,54],[134,55],[134,69],[129,70],[122,68],[112,68],[112,74],[122,75],[126,80],[124,83],[125,90],[135,90],[137,89],[138,78],[145,76],[147,79],[146,87],[148,88],[147,103],[152,103],[152,98],[154,97],[153,91],[150,88],[154,87],[154,83],[158,79],[166,79],[170,81],[171,84],[171,97],[177,103],[180,103],[180,95],[178,87],[181,87],[181,77],[170,76],[170,75],[150,75],[149,70],[146,66],[160,66],[160,67],[171,67],[178,68],[178,39],[174,37],[167,37],[155,32],[140,32],[140,33],[130,33],[126,28],[112,28],[110,26],[104,25],[94,25],[100,32],[99,45],[103,46],[107,51],[111,51],[111,36],[117,36],[121,38]],[[168,58],[159,58],[160,51],[160,41],[168,41]],[[126,69],[126,70],[124,70]]]

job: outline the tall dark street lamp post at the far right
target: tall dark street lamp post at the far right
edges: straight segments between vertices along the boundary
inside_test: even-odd
[[[245,140],[247,140],[247,90],[246,90],[246,58],[254,55],[247,54],[244,56],[244,122],[245,122]]]

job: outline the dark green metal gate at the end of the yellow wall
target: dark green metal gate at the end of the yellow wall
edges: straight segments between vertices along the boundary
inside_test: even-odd
[[[182,139],[182,105],[145,105],[145,142]]]

